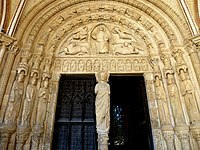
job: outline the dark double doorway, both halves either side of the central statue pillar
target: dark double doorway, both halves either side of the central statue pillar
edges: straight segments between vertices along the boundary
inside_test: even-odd
[[[152,150],[153,142],[142,76],[109,78],[111,127],[109,150]],[[60,79],[53,150],[97,150],[94,75]]]

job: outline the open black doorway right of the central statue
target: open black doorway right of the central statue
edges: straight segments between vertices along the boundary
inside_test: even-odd
[[[143,76],[111,75],[109,150],[153,150]]]

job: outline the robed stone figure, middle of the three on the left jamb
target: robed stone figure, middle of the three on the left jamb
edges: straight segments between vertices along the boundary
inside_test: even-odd
[[[30,78],[30,82],[26,89],[26,96],[25,96],[23,111],[22,111],[21,126],[28,127],[30,125],[31,113],[33,110],[34,100],[36,96],[37,77],[38,77],[38,74],[34,72],[32,77]]]

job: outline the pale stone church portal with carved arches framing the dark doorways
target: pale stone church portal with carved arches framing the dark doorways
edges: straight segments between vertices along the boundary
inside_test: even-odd
[[[153,149],[200,149],[200,2],[166,1],[4,0],[0,149],[52,149],[59,81],[79,75],[96,75],[86,86],[98,85],[96,95],[86,96],[107,102],[109,76],[142,76]],[[95,114],[106,150],[110,114]]]

